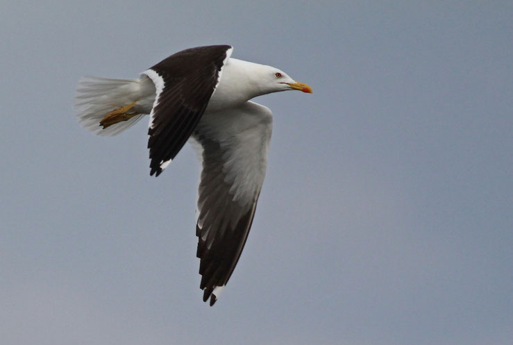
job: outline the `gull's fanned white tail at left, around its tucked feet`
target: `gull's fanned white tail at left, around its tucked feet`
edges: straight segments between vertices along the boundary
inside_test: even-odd
[[[77,115],[78,122],[94,134],[117,135],[144,117],[145,114],[140,112],[123,114],[119,112],[120,109],[128,112],[139,98],[139,79],[86,76],[81,79],[76,89],[74,105],[80,111]],[[127,107],[128,105],[130,106]],[[110,122],[106,124],[108,115],[110,115]],[[112,121],[112,117],[116,119]]]

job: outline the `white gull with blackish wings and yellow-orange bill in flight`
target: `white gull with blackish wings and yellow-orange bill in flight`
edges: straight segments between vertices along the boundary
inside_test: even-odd
[[[137,79],[85,76],[74,101],[78,122],[96,135],[117,135],[149,115],[151,176],[159,176],[186,142],[197,151],[196,257],[210,306],[244,249],[267,169],[272,113],[251,99],[312,93],[284,71],[231,58],[232,52],[230,45],[185,49]]]

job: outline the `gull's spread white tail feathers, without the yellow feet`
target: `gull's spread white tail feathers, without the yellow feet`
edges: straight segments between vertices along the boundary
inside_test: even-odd
[[[136,112],[142,112],[127,121],[112,124],[107,128],[100,125],[101,119],[117,108],[127,106],[134,101],[151,97],[153,83],[146,85],[149,78],[144,79],[109,79],[86,76],[78,83],[74,106],[79,111],[78,122],[87,131],[97,135],[117,135],[149,113],[147,106],[135,106]],[[143,83],[144,82],[144,83]],[[144,84],[144,85],[142,85]],[[154,91],[153,91],[153,99]],[[146,103],[146,102],[144,102]]]

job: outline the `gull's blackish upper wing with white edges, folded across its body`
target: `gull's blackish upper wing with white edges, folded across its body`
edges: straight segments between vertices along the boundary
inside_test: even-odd
[[[144,71],[156,89],[148,130],[150,175],[158,176],[189,139],[231,51],[230,46],[187,49]]]

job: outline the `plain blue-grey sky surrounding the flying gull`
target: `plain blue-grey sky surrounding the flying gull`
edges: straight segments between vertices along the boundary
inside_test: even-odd
[[[2,344],[511,344],[511,1],[1,1]],[[314,94],[274,111],[253,229],[214,308],[199,165],[146,121],[94,137],[83,75],[233,44]]]

